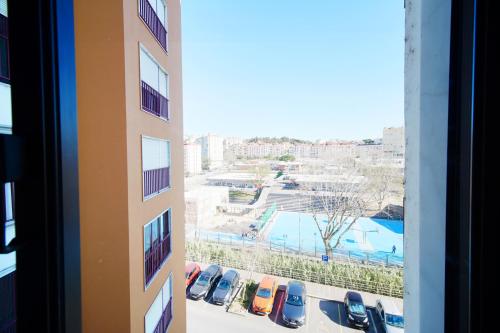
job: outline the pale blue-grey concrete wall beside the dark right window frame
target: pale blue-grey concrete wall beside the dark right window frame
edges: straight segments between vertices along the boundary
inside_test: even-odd
[[[444,331],[451,0],[406,0],[405,332]]]

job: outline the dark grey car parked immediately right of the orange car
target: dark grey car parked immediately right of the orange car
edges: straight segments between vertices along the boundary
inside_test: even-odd
[[[299,327],[306,320],[306,286],[303,282],[288,282],[283,306],[282,318],[287,326]]]

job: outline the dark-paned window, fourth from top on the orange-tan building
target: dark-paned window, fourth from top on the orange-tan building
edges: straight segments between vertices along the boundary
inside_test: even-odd
[[[144,226],[144,281],[145,286],[153,280],[172,252],[171,210],[157,216]]]

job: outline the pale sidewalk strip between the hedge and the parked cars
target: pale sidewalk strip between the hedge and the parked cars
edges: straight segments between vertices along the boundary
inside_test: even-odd
[[[205,269],[206,267],[209,266],[209,264],[202,264],[199,263],[201,269]],[[228,269],[231,269],[230,267],[223,267],[224,272]],[[244,271],[244,270],[237,270],[240,273],[241,280],[243,279],[249,279],[252,278],[253,280],[259,282],[265,274],[262,273],[257,273],[257,272],[250,272],[250,271]],[[282,278],[275,276],[276,280],[282,285],[287,285],[289,279],[287,278]],[[344,301],[344,296],[346,292],[348,291],[347,289],[344,288],[339,288],[339,287],[334,287],[334,286],[325,286],[322,284],[318,283],[313,283],[313,282],[304,282],[306,285],[306,290],[307,290],[307,295],[309,297],[313,298],[318,298],[318,299],[325,299],[325,300],[334,300],[338,302],[343,302]],[[395,297],[388,297],[388,296],[381,296],[381,295],[376,295],[372,293],[367,293],[363,291],[359,291],[361,296],[363,297],[363,301],[366,306],[375,306],[375,302],[379,298],[383,298],[386,300],[392,300],[396,307],[403,313],[403,299],[401,298],[395,298]]]

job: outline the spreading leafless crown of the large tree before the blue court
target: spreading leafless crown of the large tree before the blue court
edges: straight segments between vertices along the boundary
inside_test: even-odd
[[[364,179],[352,173],[335,177],[319,186],[309,186],[309,207],[329,257],[366,211]],[[335,237],[337,239],[332,245]]]

